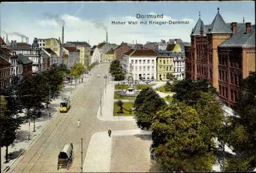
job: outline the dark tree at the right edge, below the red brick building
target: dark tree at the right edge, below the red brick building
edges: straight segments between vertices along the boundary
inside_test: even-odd
[[[226,171],[233,170],[237,162],[243,163],[242,170],[250,171],[256,167],[256,72],[241,82],[238,104],[235,111],[239,117],[233,117],[228,144],[239,157],[227,160]]]

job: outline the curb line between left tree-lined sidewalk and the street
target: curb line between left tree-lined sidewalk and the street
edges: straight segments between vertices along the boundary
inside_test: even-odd
[[[80,85],[81,85],[81,84],[86,84],[86,82],[82,82],[82,83],[80,83]],[[80,86],[80,85],[79,85],[79,86]],[[78,87],[79,87],[79,86],[78,86]],[[73,94],[75,94],[75,93],[77,92],[78,87],[76,88],[76,90],[75,90],[74,92],[72,92],[72,96],[73,96]],[[7,172],[8,170],[10,170],[11,167],[12,167],[12,165],[13,165],[14,163],[16,163],[16,161],[24,154],[24,152],[31,146],[31,144],[32,144],[36,139],[38,139],[38,136],[41,134],[41,132],[44,131],[44,129],[45,129],[47,126],[49,126],[50,122],[51,122],[54,118],[56,118],[56,114],[57,114],[57,113],[59,113],[59,112],[57,111],[57,112],[55,112],[55,113],[52,115],[52,118],[50,119],[50,121],[49,121],[43,128],[41,128],[41,130],[36,134],[36,136],[35,136],[34,139],[30,140],[29,144],[27,145],[27,147],[25,147],[25,149],[23,150],[23,152],[18,155],[18,157],[14,160],[14,162],[13,162],[11,165],[7,166],[7,167],[3,170],[4,172]],[[1,170],[1,172],[2,172],[2,170]]]

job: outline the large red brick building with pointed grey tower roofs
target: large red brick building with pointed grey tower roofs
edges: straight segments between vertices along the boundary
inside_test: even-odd
[[[211,25],[204,25],[199,15],[190,37],[191,46],[185,47],[186,78],[207,79],[222,101],[234,105],[240,81],[255,71],[255,26],[225,23],[218,8]]]

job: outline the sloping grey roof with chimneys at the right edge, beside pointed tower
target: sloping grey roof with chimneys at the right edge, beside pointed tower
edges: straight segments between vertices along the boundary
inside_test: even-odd
[[[255,48],[255,25],[251,26],[250,33],[246,33],[245,24],[238,24],[236,34],[224,41],[219,47]]]

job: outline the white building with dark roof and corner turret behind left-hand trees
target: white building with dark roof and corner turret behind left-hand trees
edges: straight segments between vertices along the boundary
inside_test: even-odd
[[[42,56],[41,56],[41,49],[37,44],[37,38],[34,38],[33,44],[31,46],[24,45],[13,45],[8,47],[9,50],[15,52],[17,55],[23,54],[24,56],[28,57],[30,60],[33,61],[32,71],[33,74],[38,73],[41,71],[42,68]]]

